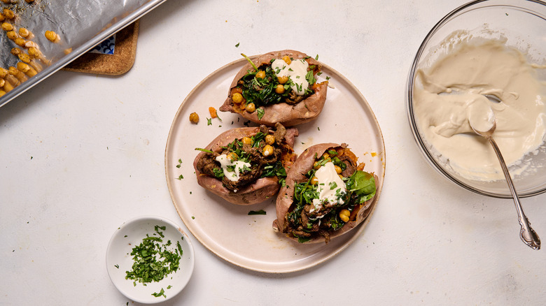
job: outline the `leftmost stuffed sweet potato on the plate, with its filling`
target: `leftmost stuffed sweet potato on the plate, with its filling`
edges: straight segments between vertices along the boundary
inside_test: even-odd
[[[279,191],[285,167],[295,161],[297,129],[276,124],[230,129],[200,150],[193,161],[197,183],[237,205],[251,205]]]

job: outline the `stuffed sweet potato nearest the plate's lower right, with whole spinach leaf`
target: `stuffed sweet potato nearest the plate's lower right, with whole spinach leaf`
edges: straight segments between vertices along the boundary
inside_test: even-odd
[[[298,242],[328,243],[360,224],[377,180],[362,168],[344,143],[309,147],[290,167],[279,191],[274,230]]]

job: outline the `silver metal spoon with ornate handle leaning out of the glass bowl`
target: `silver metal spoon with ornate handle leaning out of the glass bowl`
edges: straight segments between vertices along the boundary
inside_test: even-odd
[[[503,159],[503,155],[500,154],[500,150],[498,150],[498,146],[495,143],[495,140],[493,140],[493,131],[495,131],[496,129],[496,122],[493,122],[493,126],[491,127],[491,129],[489,129],[489,131],[477,131],[474,126],[472,126],[472,124],[470,124],[470,127],[472,127],[472,130],[479,136],[483,136],[486,140],[489,140],[489,143],[491,143],[491,145],[493,146],[493,150],[495,150],[495,153],[497,154],[498,161],[500,162],[500,167],[503,168],[506,182],[508,183],[508,187],[510,187],[510,192],[512,192],[512,197],[514,198],[514,203],[516,205],[517,215],[519,217],[519,225],[521,226],[521,231],[519,231],[519,237],[526,245],[528,245],[532,249],[540,249],[540,238],[538,238],[538,235],[535,233],[533,228],[531,228],[531,223],[529,223],[529,220],[527,219],[523,211],[523,207],[521,207],[521,203],[519,203],[519,197],[517,196],[516,189],[514,188],[514,183],[512,182],[512,178],[510,177],[510,173],[508,172],[508,168]]]

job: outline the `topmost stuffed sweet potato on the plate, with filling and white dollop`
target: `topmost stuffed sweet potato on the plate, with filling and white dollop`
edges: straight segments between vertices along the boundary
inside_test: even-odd
[[[220,110],[258,124],[295,126],[315,119],[326,101],[328,81],[318,83],[321,64],[307,54],[282,50],[262,54],[235,76]]]

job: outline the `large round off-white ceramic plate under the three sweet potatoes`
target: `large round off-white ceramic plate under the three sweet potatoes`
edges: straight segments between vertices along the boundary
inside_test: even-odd
[[[184,224],[205,247],[221,258],[243,268],[260,272],[293,272],[310,268],[332,258],[351,244],[369,221],[349,233],[331,240],[328,245],[301,245],[272,230],[276,218],[274,199],[249,206],[233,205],[205,191],[197,184],[193,160],[196,147],[205,147],[218,134],[244,126],[238,115],[218,112],[210,118],[208,108],[218,109],[228,95],[235,74],[246,64],[234,61],[202,80],[181,104],[169,132],[165,150],[165,172],[174,206]],[[322,78],[330,77],[328,97],[318,119],[297,126],[295,152],[317,143],[347,143],[365,162],[367,172],[374,172],[377,182],[376,201],[385,174],[385,147],[381,129],[362,94],[343,75],[323,65]],[[200,115],[198,124],[191,124],[190,113]],[[181,161],[181,162],[180,162]],[[181,178],[181,176],[183,178]],[[248,215],[251,210],[266,214]]]

